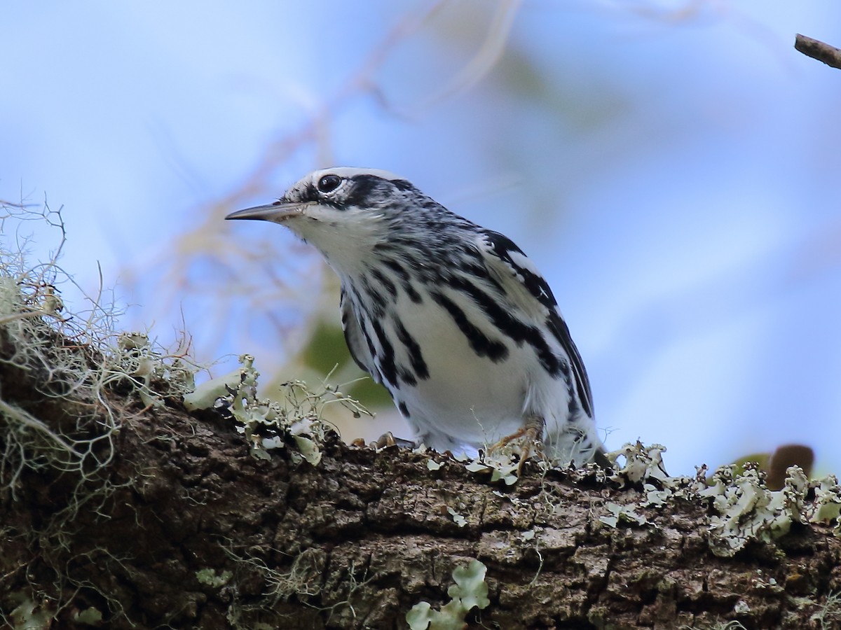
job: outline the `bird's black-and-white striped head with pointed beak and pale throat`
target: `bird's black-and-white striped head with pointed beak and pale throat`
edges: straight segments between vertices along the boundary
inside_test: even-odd
[[[409,181],[388,171],[339,167],[314,171],[278,201],[225,218],[280,223],[319,249],[341,274],[352,272],[375,245],[410,228],[418,213],[431,210],[430,203]]]

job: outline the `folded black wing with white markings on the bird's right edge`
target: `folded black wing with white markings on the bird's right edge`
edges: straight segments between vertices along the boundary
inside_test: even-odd
[[[584,361],[569,335],[567,323],[563,321],[558,302],[547,281],[522,249],[503,234],[483,230],[479,252],[490,276],[500,283],[511,301],[532,314],[538,322],[545,318],[544,325],[569,356],[581,407],[588,416],[593,417],[593,396]]]

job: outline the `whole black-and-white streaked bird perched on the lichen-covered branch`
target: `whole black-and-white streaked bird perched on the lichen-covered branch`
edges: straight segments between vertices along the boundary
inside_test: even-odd
[[[320,252],[341,281],[353,360],[389,391],[413,444],[476,457],[524,438],[555,461],[608,464],[558,303],[505,235],[356,167],[311,172],[225,218],[278,223]]]

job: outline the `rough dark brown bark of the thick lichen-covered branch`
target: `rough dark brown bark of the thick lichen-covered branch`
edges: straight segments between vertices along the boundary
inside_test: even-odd
[[[0,397],[67,426],[79,402],[45,403],[40,376],[0,363]],[[319,465],[294,464],[290,449],[254,459],[214,412],[108,396],[120,409],[108,465],[24,468],[0,495],[7,623],[406,627],[411,606],[446,604],[452,570],[479,559],[490,605],[469,627],[834,627],[841,541],[828,527],[720,558],[700,502],[637,507],[642,526],[602,522],[607,502],[642,496],[604,475],[527,467],[500,486],[443,455],[337,438]],[[87,413],[72,430],[98,431]]]

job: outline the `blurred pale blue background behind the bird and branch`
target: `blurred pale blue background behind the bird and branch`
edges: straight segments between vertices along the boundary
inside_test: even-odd
[[[0,19],[0,199],[62,207],[61,265],[88,296],[114,287],[121,328],[186,328],[214,375],[254,354],[266,395],[332,370],[378,408],[315,251],[222,221],[316,167],[378,167],[535,260],[609,448],[661,443],[690,474],[797,442],[841,471],[841,72],[792,47],[841,46],[838,0],[53,0]],[[388,405],[337,422],[405,434]]]

